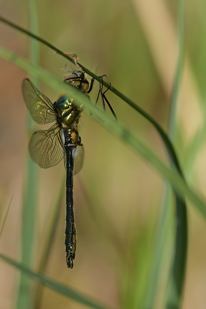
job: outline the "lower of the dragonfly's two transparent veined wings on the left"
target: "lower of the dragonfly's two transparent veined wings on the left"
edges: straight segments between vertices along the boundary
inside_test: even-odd
[[[29,152],[40,167],[48,168],[58,164],[64,158],[65,150],[59,135],[60,127],[55,123],[47,131],[36,131],[29,142]]]

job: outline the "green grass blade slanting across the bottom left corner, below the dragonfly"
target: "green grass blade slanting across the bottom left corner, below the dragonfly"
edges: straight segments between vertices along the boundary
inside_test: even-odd
[[[28,276],[30,276],[32,279],[37,279],[41,282],[44,286],[47,286],[48,288],[65,295],[66,297],[69,297],[79,303],[82,303],[85,306],[95,308],[95,309],[111,309],[107,306],[101,305],[97,303],[96,301],[91,300],[87,296],[84,296],[83,294],[76,292],[74,289],[70,288],[69,286],[63,285],[59,283],[58,281],[52,280],[46,276],[44,276],[41,273],[34,272],[32,269],[29,269],[27,266],[23,265],[22,263],[16,262],[13,259],[10,259],[9,257],[0,254],[0,258],[10,265],[13,265],[26,273]]]

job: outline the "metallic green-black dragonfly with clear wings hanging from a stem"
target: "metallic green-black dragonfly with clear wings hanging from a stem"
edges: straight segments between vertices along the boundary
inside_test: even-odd
[[[69,72],[67,72],[69,73]],[[115,112],[111,108],[102,83],[99,84],[99,95],[110,108],[115,120]],[[70,71],[64,76],[63,83],[69,83],[78,88],[86,96],[93,88],[94,78],[87,80],[82,70]],[[111,86],[111,84],[110,84]],[[48,130],[35,131],[29,142],[30,156],[40,167],[48,168],[58,164],[63,158],[66,168],[66,227],[65,227],[65,251],[68,268],[73,268],[76,252],[76,228],[74,224],[74,200],[73,200],[73,175],[78,173],[83,162],[83,144],[78,133],[78,124],[83,106],[77,107],[72,98],[62,95],[52,103],[43,95],[28,78],[23,79],[22,93],[26,106],[34,121],[38,124],[54,122]]]

